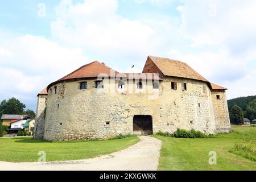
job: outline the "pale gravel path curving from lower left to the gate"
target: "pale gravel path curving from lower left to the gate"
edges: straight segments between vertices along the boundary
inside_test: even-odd
[[[0,162],[3,170],[46,170],[46,171],[155,171],[158,167],[162,142],[153,137],[139,137],[138,143],[124,150],[93,159],[49,163],[7,163]]]

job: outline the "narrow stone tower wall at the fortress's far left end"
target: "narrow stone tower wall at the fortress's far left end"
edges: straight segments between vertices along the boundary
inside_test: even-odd
[[[44,124],[46,116],[46,101],[47,95],[38,95],[38,104],[36,107],[36,119],[35,119],[35,130],[34,138],[39,139],[44,137]]]

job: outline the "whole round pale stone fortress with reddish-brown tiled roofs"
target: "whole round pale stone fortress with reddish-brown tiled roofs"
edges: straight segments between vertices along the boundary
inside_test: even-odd
[[[94,61],[38,94],[35,138],[108,139],[118,134],[205,134],[231,130],[226,88],[189,65],[148,56],[142,73],[119,73]]]

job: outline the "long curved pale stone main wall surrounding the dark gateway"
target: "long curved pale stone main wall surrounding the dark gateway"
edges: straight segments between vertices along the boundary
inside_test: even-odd
[[[134,115],[151,115],[154,133],[172,133],[181,128],[214,134],[216,126],[220,128],[215,122],[216,105],[213,107],[213,96],[206,82],[166,77],[160,81],[159,90],[146,81],[143,89],[137,89],[138,80],[126,82],[125,90],[121,90],[118,80],[105,79],[104,89],[94,88],[96,80],[84,80],[88,82],[88,89],[79,90],[82,81],[52,86],[52,90],[57,86],[57,94],[52,92],[48,96],[45,139],[106,139],[133,134]],[[171,81],[177,82],[177,90],[171,89]],[[182,82],[187,83],[187,90],[181,89]],[[113,85],[115,89],[111,89]],[[203,86],[207,87],[207,93],[203,92]],[[222,123],[228,122],[228,118],[222,120]],[[230,125],[221,128],[230,130]]]

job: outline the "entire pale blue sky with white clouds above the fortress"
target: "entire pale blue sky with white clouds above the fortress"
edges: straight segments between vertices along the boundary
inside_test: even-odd
[[[40,90],[81,65],[141,72],[148,55],[188,63],[228,98],[255,95],[255,9],[253,0],[3,1],[0,101],[35,110]]]

